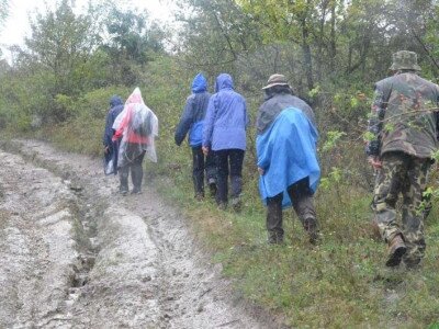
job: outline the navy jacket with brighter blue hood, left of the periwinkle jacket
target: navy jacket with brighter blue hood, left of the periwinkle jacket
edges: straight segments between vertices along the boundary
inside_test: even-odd
[[[207,80],[198,73],[192,82],[192,94],[187,99],[183,114],[176,129],[176,144],[181,145],[189,132],[189,145],[199,147],[202,143],[203,123],[209,99]]]

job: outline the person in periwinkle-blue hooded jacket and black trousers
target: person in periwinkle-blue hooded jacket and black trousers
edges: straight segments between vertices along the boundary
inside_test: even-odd
[[[233,208],[239,212],[241,207],[247,123],[246,100],[234,91],[232,77],[221,73],[216,78],[215,93],[207,105],[202,149],[204,155],[214,151],[217,170],[216,202],[222,209],[228,204],[228,175]]]

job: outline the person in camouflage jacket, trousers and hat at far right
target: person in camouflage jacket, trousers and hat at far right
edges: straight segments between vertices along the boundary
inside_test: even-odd
[[[385,264],[416,268],[424,258],[423,192],[437,150],[439,87],[418,76],[417,55],[393,54],[392,76],[375,83],[367,140],[368,162],[380,170],[373,204],[389,245]],[[402,223],[396,202],[403,195]]]

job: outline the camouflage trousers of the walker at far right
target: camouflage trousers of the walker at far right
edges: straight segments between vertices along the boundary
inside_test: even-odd
[[[386,242],[401,234],[407,246],[404,259],[417,262],[426,249],[421,205],[431,160],[403,152],[387,152],[382,156],[382,163],[373,195],[380,234]],[[396,211],[399,193],[403,196],[401,224]]]

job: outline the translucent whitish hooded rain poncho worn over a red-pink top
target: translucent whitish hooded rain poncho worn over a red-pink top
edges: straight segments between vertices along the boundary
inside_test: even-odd
[[[157,162],[154,138],[158,135],[158,120],[145,105],[138,88],[126,100],[124,110],[114,121],[113,129],[113,139],[120,139],[119,168],[132,163],[144,151],[148,159]]]

